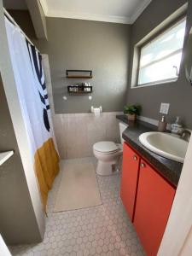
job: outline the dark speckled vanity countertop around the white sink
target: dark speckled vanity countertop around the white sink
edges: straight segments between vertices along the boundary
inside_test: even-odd
[[[168,160],[158,154],[154,154],[145,148],[138,139],[143,132],[157,131],[157,126],[140,120],[137,120],[136,122],[128,121],[125,115],[117,115],[116,118],[129,125],[129,127],[123,132],[125,142],[130,144],[131,148],[135,149],[139,154],[141,154],[144,160],[147,160],[149,164],[154,166],[154,168],[160,172],[160,174],[165,177],[168,182],[177,187],[183,164],[174,160]]]

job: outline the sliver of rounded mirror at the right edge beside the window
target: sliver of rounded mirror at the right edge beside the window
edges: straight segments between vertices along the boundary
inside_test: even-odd
[[[185,74],[189,83],[192,85],[192,27],[189,32],[189,39],[185,56]]]

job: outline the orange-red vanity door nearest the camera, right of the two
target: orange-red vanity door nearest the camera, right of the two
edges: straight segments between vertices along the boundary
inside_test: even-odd
[[[134,226],[148,256],[156,256],[172,208],[175,189],[141,160]]]

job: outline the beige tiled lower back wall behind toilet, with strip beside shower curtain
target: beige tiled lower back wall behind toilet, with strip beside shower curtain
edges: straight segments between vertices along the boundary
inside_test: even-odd
[[[65,113],[55,114],[49,74],[48,55],[43,55],[44,73],[52,110],[55,137],[61,159],[81,158],[93,155],[92,146],[99,141],[119,143],[119,121],[116,112],[102,113]]]

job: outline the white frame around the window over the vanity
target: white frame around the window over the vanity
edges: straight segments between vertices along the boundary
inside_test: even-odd
[[[139,45],[138,47],[138,66],[137,66],[137,83],[136,86],[133,86],[131,88],[140,88],[140,87],[145,87],[145,86],[151,86],[151,85],[157,85],[157,84],[167,84],[167,83],[174,83],[177,81],[179,74],[180,74],[180,70],[181,68],[179,68],[178,74],[176,78],[170,78],[170,79],[162,79],[162,80],[156,80],[153,82],[149,82],[149,83],[144,83],[144,84],[138,84],[138,79],[139,79],[139,71],[140,71],[140,61],[141,61],[141,51],[142,48],[145,47],[146,45],[148,45],[149,43],[153,42],[155,39],[160,38],[162,35],[164,35],[166,32],[172,30],[173,27],[177,26],[179,23],[182,23],[183,20],[187,21],[187,15],[186,13],[183,15],[180,15],[179,17],[177,17],[177,19],[173,20],[171,23],[169,23],[167,26],[163,27],[163,29],[160,30],[160,32],[157,32],[154,34],[153,37],[148,38],[148,40],[146,42],[144,42],[143,44]],[[185,26],[185,33],[186,33],[186,26]],[[184,35],[184,39],[183,39],[183,46],[184,46],[184,40],[185,40],[185,35]],[[178,49],[178,52],[182,52],[182,57],[183,57],[183,48],[182,49]],[[174,52],[175,54],[175,52]],[[170,54],[170,55],[173,55]],[[158,60],[158,61],[162,61],[163,59],[166,59],[166,57],[163,57],[162,59]],[[155,62],[158,62],[155,61]],[[182,61],[182,59],[181,59]],[[150,65],[150,64],[149,64]],[[148,65],[148,66],[149,66]],[[147,66],[147,65],[146,65]]]

